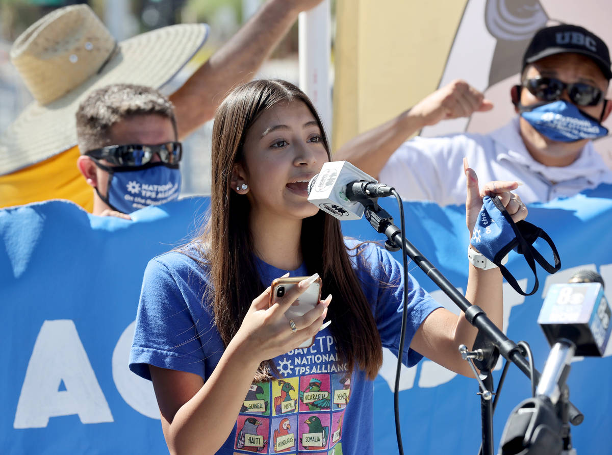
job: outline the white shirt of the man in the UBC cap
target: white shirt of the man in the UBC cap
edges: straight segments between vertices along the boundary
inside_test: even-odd
[[[523,143],[518,117],[486,135],[460,133],[406,141],[387,161],[379,181],[394,186],[405,200],[463,205],[463,157],[476,171],[480,187],[492,180],[522,181],[524,185],[514,192],[524,203],[569,197],[612,183],[612,170],[591,141],[569,166],[549,167],[535,161]]]

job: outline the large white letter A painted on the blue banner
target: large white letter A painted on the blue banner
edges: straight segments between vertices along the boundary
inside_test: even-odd
[[[62,381],[65,390],[59,391]],[[14,428],[42,428],[50,417],[113,422],[111,410],[72,320],[43,322],[21,386]]]

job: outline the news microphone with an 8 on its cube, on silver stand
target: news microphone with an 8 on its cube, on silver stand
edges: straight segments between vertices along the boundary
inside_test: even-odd
[[[567,426],[565,382],[573,356],[603,355],[611,314],[603,279],[593,271],[578,271],[568,283],[551,285],[537,320],[551,345],[550,354],[535,396],[510,414],[499,455],[576,453]]]

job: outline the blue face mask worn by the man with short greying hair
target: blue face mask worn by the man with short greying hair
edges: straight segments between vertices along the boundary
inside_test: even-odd
[[[179,165],[149,163],[143,166],[109,167],[94,160],[108,172],[108,191],[104,197],[95,192],[110,208],[132,213],[149,205],[160,205],[179,197],[181,171]]]

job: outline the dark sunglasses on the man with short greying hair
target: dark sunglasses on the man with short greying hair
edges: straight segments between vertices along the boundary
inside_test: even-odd
[[[183,156],[183,146],[180,142],[167,142],[159,145],[109,145],[90,150],[85,154],[92,158],[105,159],[119,166],[141,166],[151,162],[155,154],[159,156],[162,163],[178,164]]]

